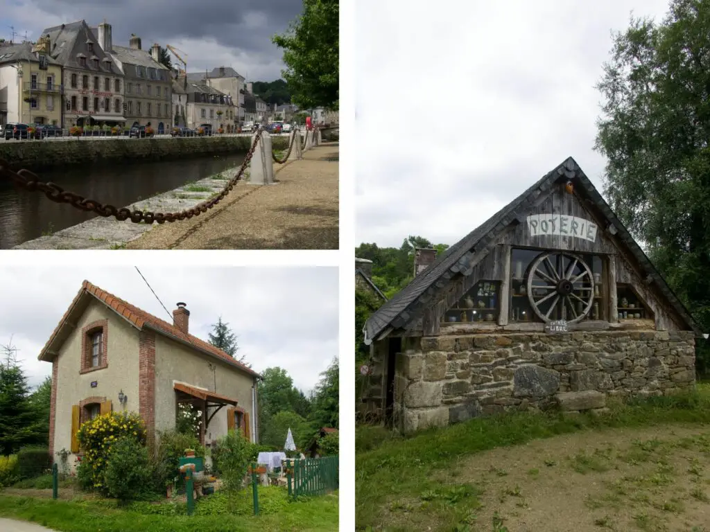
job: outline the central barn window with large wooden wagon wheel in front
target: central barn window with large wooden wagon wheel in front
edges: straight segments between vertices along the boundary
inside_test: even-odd
[[[513,249],[511,322],[608,320],[604,260],[559,250]]]

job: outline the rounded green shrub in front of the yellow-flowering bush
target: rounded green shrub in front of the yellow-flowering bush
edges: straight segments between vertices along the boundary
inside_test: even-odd
[[[151,465],[148,449],[136,438],[123,436],[111,445],[104,471],[106,492],[121,501],[139,499],[151,491]]]

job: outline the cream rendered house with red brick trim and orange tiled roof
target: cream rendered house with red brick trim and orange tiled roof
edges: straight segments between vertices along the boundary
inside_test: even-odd
[[[190,311],[177,307],[168,323],[83,282],[38,357],[52,363],[54,457],[81,453],[81,423],[112,410],[138,412],[154,448],[159,431],[175,427],[179,404],[202,411],[205,445],[230,428],[258,441],[259,375],[190,334]]]

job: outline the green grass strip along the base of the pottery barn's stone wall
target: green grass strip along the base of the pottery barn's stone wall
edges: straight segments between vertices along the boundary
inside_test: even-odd
[[[484,450],[578,431],[708,423],[710,385],[699,384],[694,391],[677,396],[609,406],[608,414],[601,416],[502,414],[422,431],[408,438],[382,427],[360,427],[356,429],[356,526],[359,530],[405,530],[407,526],[398,526],[396,517],[423,512],[437,516],[441,530],[469,530],[479,500],[475,486],[464,484],[461,488],[456,484],[457,471],[449,467],[457,460]],[[578,472],[602,471],[607,467],[606,457],[579,455],[572,458],[571,467]],[[442,485],[444,474],[452,477],[448,486]]]

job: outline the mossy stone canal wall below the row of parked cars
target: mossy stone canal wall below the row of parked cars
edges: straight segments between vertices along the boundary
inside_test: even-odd
[[[273,149],[288,148],[287,136],[273,136]],[[251,136],[188,138],[97,138],[83,140],[3,140],[0,159],[14,169],[48,170],[89,163],[141,162],[187,157],[204,157],[224,153],[245,153]]]

